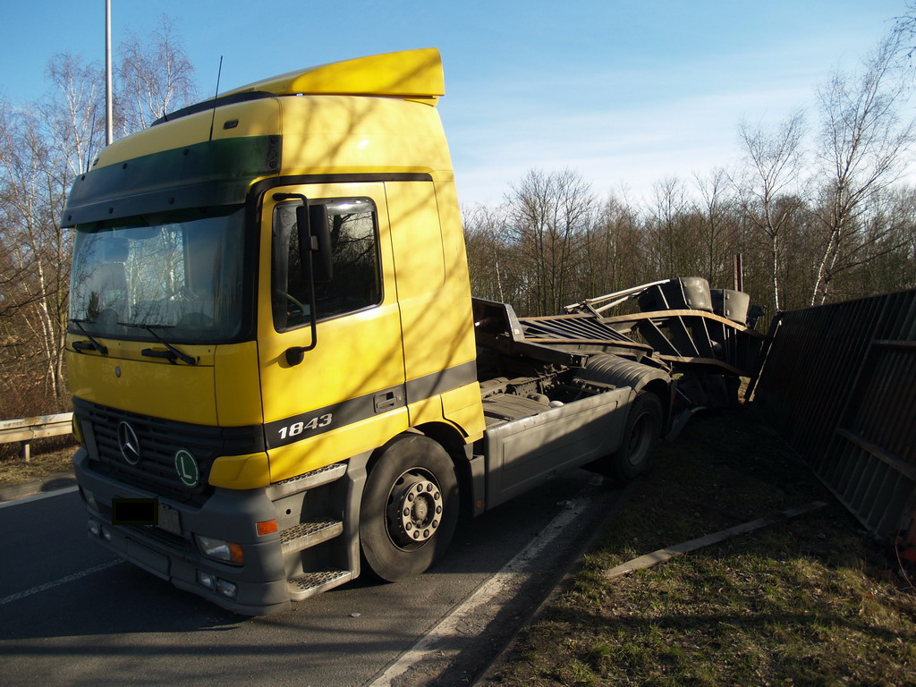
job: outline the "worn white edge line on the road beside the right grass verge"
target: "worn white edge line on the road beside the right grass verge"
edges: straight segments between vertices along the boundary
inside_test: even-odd
[[[553,518],[550,524],[534,540],[529,542],[528,546],[518,551],[515,558],[507,562],[499,572],[481,584],[462,605],[453,608],[452,612],[443,617],[436,627],[433,627],[426,635],[420,638],[420,641],[405,651],[398,660],[388,667],[387,671],[382,673],[375,681],[366,685],[366,687],[391,687],[391,684],[409,671],[410,667],[415,663],[420,662],[427,656],[436,654],[436,647],[443,640],[465,637],[469,618],[474,616],[474,612],[481,606],[488,605],[489,614],[491,616],[496,615],[500,607],[500,605],[494,603],[497,594],[502,592],[508,585],[523,578],[529,567],[538,562],[540,552],[562,537],[564,530],[572,525],[577,518],[580,518],[583,510],[593,502],[592,499],[588,498],[580,498],[578,496],[573,498],[567,507],[563,508],[562,512],[556,518]],[[462,627],[464,627],[464,630]]]

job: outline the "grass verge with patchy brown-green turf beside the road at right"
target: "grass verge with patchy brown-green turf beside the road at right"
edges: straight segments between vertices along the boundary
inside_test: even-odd
[[[692,420],[486,685],[913,685],[916,597],[752,409]],[[608,580],[644,553],[831,505]]]

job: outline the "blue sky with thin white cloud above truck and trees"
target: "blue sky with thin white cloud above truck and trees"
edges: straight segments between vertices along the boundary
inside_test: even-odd
[[[170,16],[202,96],[376,52],[442,51],[439,105],[465,204],[499,202],[526,170],[569,167],[606,194],[648,199],[738,158],[737,124],[813,108],[904,0],[386,0],[286,4],[112,0],[113,42]],[[104,0],[7,2],[0,97],[47,89],[56,52],[104,60]]]

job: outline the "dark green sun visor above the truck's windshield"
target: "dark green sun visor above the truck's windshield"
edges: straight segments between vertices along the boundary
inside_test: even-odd
[[[241,205],[280,169],[281,136],[221,138],[93,169],[73,184],[63,226],[193,207]]]

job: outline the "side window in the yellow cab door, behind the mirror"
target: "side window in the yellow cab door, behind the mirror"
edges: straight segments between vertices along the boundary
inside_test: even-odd
[[[315,314],[325,320],[380,303],[382,284],[375,203],[368,198],[320,202],[328,208],[333,266],[333,279],[315,284]],[[309,279],[300,265],[296,230],[297,204],[281,203],[274,210],[272,305],[278,332],[310,322]]]

